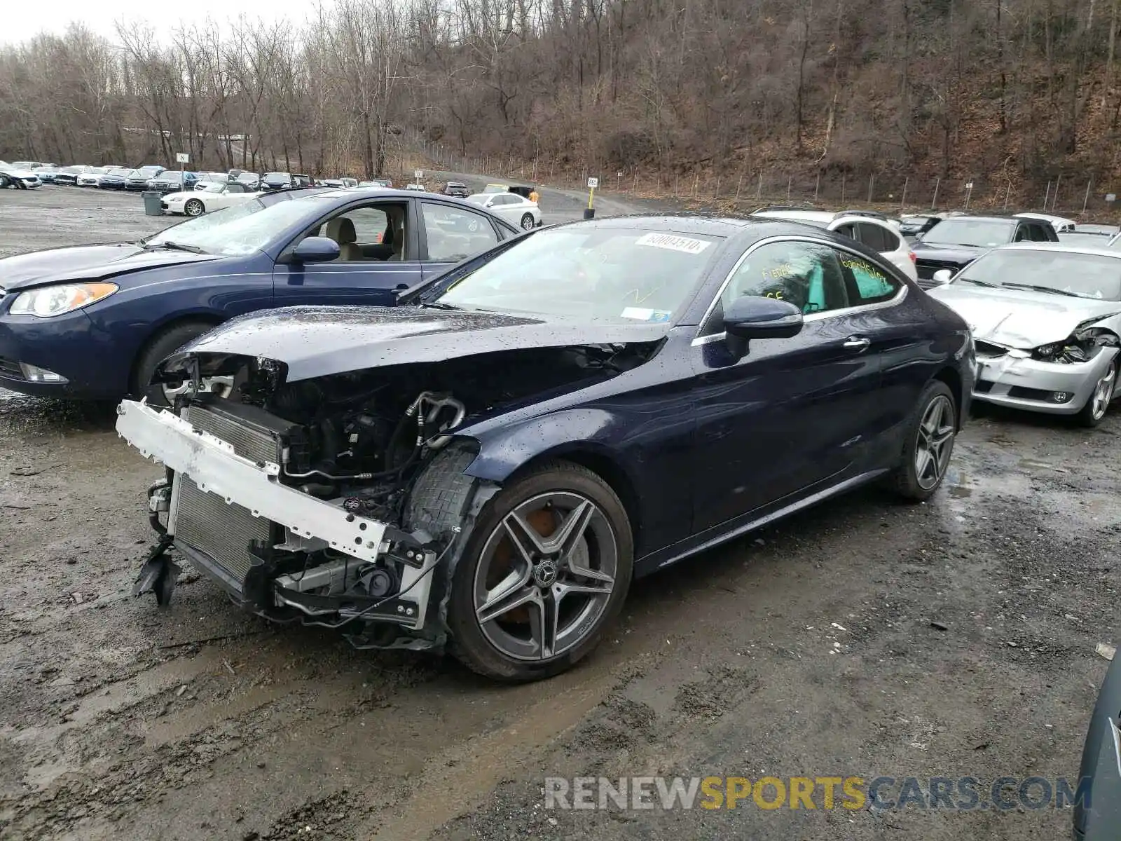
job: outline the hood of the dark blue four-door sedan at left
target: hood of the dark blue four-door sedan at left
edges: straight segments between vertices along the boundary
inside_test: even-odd
[[[0,259],[0,287],[15,292],[52,283],[101,280],[161,266],[217,259],[221,259],[217,255],[196,255],[189,251],[147,251],[130,242],[54,248]]]

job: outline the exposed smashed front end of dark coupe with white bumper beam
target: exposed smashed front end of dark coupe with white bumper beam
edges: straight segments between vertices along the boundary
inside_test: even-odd
[[[156,375],[188,383],[174,410],[118,408],[119,434],[167,468],[135,590],[170,600],[174,547],[270,620],[340,628],[359,647],[438,648],[451,571],[499,489],[464,473],[471,422],[602,381],[652,348],[452,354],[296,381],[279,360],[180,352]]]

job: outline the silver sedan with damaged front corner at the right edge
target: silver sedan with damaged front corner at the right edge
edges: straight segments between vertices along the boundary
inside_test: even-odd
[[[1121,251],[1018,243],[944,272],[929,294],[973,332],[973,399],[1101,422],[1119,386]]]

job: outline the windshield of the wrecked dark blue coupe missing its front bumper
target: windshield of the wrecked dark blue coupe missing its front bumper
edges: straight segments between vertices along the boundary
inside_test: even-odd
[[[669,322],[693,295],[716,237],[618,228],[535,233],[437,298],[466,309]]]

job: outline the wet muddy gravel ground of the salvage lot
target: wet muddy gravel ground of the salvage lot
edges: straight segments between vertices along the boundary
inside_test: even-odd
[[[0,248],[158,227],[138,206],[9,191]],[[1054,808],[546,812],[541,787],[1075,777],[1118,634],[1121,409],[984,413],[932,502],[865,490],[646,579],[584,665],[520,687],[267,626],[194,573],[169,610],[131,598],[160,471],[112,424],[0,392],[0,837],[1068,837]]]

